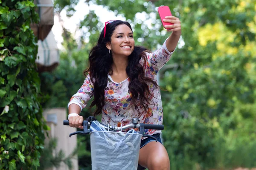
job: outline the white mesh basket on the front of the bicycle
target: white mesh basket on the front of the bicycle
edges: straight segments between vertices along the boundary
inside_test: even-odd
[[[90,132],[92,170],[137,170],[142,134]]]

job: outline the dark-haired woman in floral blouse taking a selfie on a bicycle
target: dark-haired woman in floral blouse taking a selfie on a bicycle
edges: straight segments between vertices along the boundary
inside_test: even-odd
[[[82,129],[83,117],[79,113],[93,96],[90,108],[96,106],[95,115],[102,113],[102,123],[124,126],[136,117],[141,123],[162,124],[157,72],[170,59],[181,35],[177,17],[168,16],[164,22],[174,23],[166,26],[172,34],[154,53],[135,46],[129,23],[120,20],[105,23],[97,45],[90,51],[84,84],[68,104],[71,127]],[[155,136],[158,142],[151,142],[154,141],[151,138],[141,141],[139,164],[149,170],[170,169],[160,133],[160,130],[146,130],[145,134]]]

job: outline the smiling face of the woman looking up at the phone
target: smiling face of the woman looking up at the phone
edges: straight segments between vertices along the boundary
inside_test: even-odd
[[[134,38],[131,29],[125,24],[116,27],[111,36],[111,42],[106,47],[113,56],[129,56],[134,51]]]

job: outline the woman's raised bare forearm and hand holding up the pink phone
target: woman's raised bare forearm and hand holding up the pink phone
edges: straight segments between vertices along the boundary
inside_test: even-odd
[[[173,25],[166,26],[166,28],[171,28],[167,30],[168,32],[172,31],[172,34],[166,41],[166,48],[168,51],[172,52],[176,48],[178,41],[181,35],[181,24],[180,20],[174,16],[167,16],[166,19],[163,20],[166,23],[173,23]]]

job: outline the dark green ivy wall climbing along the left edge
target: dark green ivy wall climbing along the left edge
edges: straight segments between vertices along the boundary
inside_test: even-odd
[[[32,0],[0,0],[0,169],[35,170],[44,144]]]

